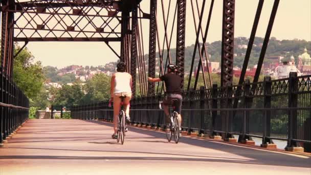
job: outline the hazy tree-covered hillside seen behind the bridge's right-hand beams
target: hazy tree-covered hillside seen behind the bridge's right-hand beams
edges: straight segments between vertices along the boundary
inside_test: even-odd
[[[241,48],[243,45],[248,45],[249,38],[246,37],[237,37],[234,40],[235,47],[234,47],[234,66],[242,67],[243,60],[245,58],[246,48]],[[254,41],[254,46],[252,49],[250,61],[249,61],[249,67],[254,66],[258,62],[258,58],[261,51],[263,38],[256,37]],[[238,47],[240,46],[240,48]],[[286,59],[289,59],[292,55],[295,57],[295,61],[297,62],[298,55],[303,53],[303,49],[307,48],[308,52],[311,53],[311,41],[305,41],[305,40],[278,40],[275,37],[271,37],[268,45],[268,49],[266,51],[265,56],[283,56]],[[221,59],[221,41],[214,41],[211,43],[207,43],[207,52],[210,55],[210,61],[220,62]],[[192,60],[192,54],[194,50],[194,45],[188,46],[185,48],[185,71],[190,70],[191,66],[191,60]],[[167,51],[164,51],[164,58],[166,58]],[[172,60],[175,60],[176,56],[176,50],[171,49],[170,55],[172,57]],[[146,63],[148,63],[148,55],[145,56]],[[157,52],[157,57],[159,57],[159,53]],[[199,54],[198,51],[196,51],[195,56],[195,65],[197,65]]]

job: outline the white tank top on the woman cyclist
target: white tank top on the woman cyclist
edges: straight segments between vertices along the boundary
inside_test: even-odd
[[[130,74],[126,72],[117,72],[115,74],[115,94],[131,93]]]

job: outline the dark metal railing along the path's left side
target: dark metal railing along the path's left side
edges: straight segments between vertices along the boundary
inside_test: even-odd
[[[0,144],[29,116],[29,100],[13,80],[0,70]]]

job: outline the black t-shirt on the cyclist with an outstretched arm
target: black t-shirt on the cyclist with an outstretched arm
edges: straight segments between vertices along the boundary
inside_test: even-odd
[[[166,92],[168,94],[181,94],[182,78],[174,73],[167,73],[160,77],[165,82]]]

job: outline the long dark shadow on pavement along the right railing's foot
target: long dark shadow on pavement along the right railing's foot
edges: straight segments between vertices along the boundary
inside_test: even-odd
[[[87,121],[92,123],[98,123],[106,126],[112,126],[112,123],[105,123],[100,121]],[[136,132],[140,134],[145,134],[157,138],[165,138],[165,133],[153,132],[151,130],[140,129],[135,127],[130,127],[130,132]],[[154,141],[157,142],[157,141]],[[167,143],[167,142],[166,142]],[[292,166],[292,167],[311,167],[311,157],[303,156],[308,158],[299,157],[296,155],[284,154],[282,152],[273,152],[267,150],[258,150],[250,147],[236,146],[230,144],[223,144],[221,142],[215,142],[210,140],[199,140],[192,139],[187,137],[182,137],[180,139],[180,143],[185,143],[194,146],[200,146],[209,149],[215,149],[224,152],[230,152],[231,154],[243,156],[246,158],[253,159],[251,161],[232,161],[232,160],[219,160],[219,162],[227,162],[227,163],[245,163],[245,164],[263,164],[263,165],[275,165],[275,166]],[[177,146],[178,144],[176,144]],[[0,157],[1,158],[1,157]],[[152,159],[152,158],[150,158]],[[197,159],[194,159],[197,160]],[[188,161],[194,161],[188,160]],[[203,160],[198,160],[203,161]],[[204,159],[204,161],[214,161],[214,159]]]

